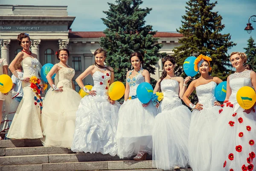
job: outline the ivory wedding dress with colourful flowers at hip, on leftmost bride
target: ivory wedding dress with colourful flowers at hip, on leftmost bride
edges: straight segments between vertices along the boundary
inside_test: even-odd
[[[23,78],[36,76],[38,78],[41,64],[36,58],[26,57],[23,63]],[[10,139],[38,139],[42,138],[40,93],[31,88],[31,82],[22,81],[23,98],[16,110],[12,124],[7,134]]]

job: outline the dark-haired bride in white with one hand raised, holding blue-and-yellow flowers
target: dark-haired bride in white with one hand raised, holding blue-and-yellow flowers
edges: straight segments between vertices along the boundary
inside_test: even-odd
[[[163,100],[157,105],[158,114],[152,128],[153,166],[164,170],[187,168],[191,111],[180,98],[191,77],[183,81],[174,74],[175,59],[170,55],[163,59],[163,67],[162,76],[154,88],[154,93],[163,93]]]

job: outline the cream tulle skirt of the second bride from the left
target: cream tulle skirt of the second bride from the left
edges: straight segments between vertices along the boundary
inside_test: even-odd
[[[63,87],[63,92],[52,88],[47,91],[41,114],[44,146],[71,147],[80,100],[79,94],[69,87]]]

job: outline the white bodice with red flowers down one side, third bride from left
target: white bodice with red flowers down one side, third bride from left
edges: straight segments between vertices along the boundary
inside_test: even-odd
[[[108,88],[111,81],[111,72],[103,73],[96,71],[93,73],[93,88],[96,90],[97,96],[104,96],[108,99]]]

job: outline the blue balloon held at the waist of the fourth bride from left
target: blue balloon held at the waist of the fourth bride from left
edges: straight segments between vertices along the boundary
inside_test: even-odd
[[[143,104],[148,103],[148,101],[151,100],[153,92],[153,87],[147,82],[140,83],[136,90],[137,97]]]

